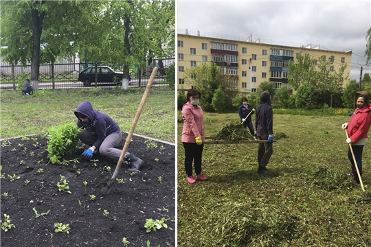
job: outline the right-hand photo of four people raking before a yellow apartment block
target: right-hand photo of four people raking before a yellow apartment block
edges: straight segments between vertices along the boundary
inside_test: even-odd
[[[371,3],[177,1],[177,246],[371,246]]]

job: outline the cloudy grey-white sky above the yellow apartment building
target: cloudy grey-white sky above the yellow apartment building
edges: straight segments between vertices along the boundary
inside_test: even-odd
[[[352,49],[350,79],[366,67],[371,1],[186,1],[177,0],[177,30],[201,36],[234,36],[255,42],[321,49]],[[360,65],[361,64],[361,65]]]

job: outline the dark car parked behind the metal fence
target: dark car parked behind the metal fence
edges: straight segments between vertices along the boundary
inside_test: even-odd
[[[122,84],[122,77],[124,74],[122,72],[113,71],[108,66],[98,66],[98,83],[113,83],[113,78],[117,77],[119,79],[119,84]],[[129,81],[131,80],[131,76]],[[84,86],[90,86],[91,82],[95,82],[95,67],[87,67],[80,73],[78,73],[78,81],[83,82]]]

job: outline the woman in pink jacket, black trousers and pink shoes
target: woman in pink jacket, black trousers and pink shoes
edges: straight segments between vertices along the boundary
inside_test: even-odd
[[[188,183],[195,183],[196,180],[207,180],[201,174],[201,161],[203,152],[203,141],[205,141],[205,131],[203,130],[203,111],[199,106],[201,93],[196,89],[190,89],[187,93],[187,103],[183,105],[181,115],[183,117],[183,131],[181,132],[181,142],[183,143],[186,158],[184,165],[188,176]],[[196,179],[192,176],[192,163],[194,162],[194,172]]]

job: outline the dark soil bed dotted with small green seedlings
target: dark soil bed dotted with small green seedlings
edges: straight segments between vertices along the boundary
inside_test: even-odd
[[[133,136],[128,146],[128,152],[144,161],[141,172],[128,172],[123,163],[108,195],[100,190],[111,180],[117,161],[96,154],[93,159],[98,161],[80,158],[74,163],[86,148],[81,147],[63,157],[71,161],[67,165],[53,165],[47,159],[46,138],[1,141],[1,220],[7,214],[15,226],[1,230],[1,246],[112,247],[125,246],[124,237],[127,246],[148,246],[148,241],[150,246],[175,246],[175,146],[151,140],[149,147],[146,140]],[[19,179],[11,182],[11,176]],[[71,193],[58,190],[61,176]],[[34,209],[49,213],[36,217]],[[104,210],[109,213],[104,215]],[[166,219],[168,228],[146,233],[146,219]],[[55,233],[55,223],[69,224],[69,234]]]

